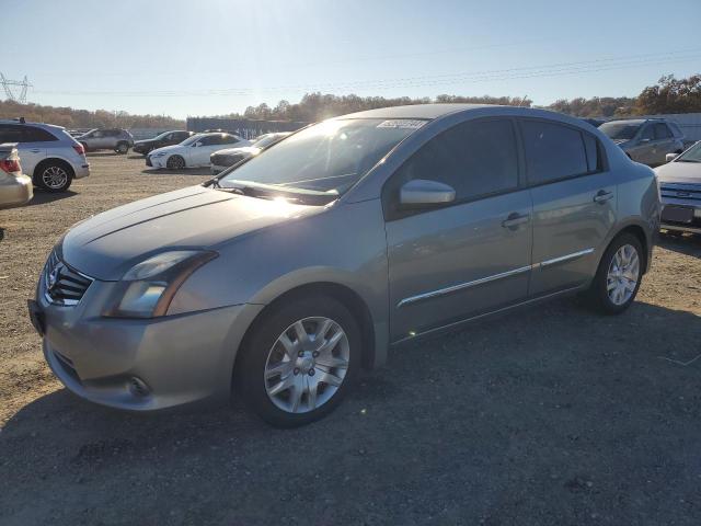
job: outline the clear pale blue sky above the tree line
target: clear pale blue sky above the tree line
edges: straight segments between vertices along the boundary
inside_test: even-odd
[[[30,102],[180,118],[313,91],[547,105],[635,96],[663,75],[701,72],[699,0],[0,0],[0,72],[27,76]]]

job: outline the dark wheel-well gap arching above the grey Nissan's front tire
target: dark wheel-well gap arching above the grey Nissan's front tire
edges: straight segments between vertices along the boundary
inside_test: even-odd
[[[253,322],[249,325],[249,329],[243,335],[243,339],[241,340],[241,346],[244,345],[253,327],[256,323],[258,323],[261,320],[263,320],[268,312],[275,310],[279,305],[281,305],[285,301],[289,301],[291,299],[295,299],[296,297],[310,296],[313,294],[330,296],[341,301],[350,311],[353,317],[358,322],[358,327],[360,328],[360,333],[363,335],[363,344],[361,344],[363,355],[360,356],[361,358],[360,363],[363,365],[363,368],[365,369],[371,368],[371,364],[375,362],[375,327],[372,324],[372,317],[370,315],[370,310],[368,309],[367,305],[365,304],[363,298],[358,296],[357,293],[355,293],[353,289],[344,285],[338,285],[336,283],[329,283],[329,282],[310,283],[310,284],[306,284],[306,285],[301,285],[299,287],[292,288],[281,294],[280,296],[275,298],[273,301],[271,301],[267,306],[265,306],[265,308],[261,312],[258,312],[258,315],[255,317]],[[238,359],[239,358],[237,355],[237,362]],[[235,363],[233,368],[235,370]]]

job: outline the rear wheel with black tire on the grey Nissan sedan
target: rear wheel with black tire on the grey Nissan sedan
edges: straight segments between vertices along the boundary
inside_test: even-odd
[[[644,258],[643,248],[635,236],[617,236],[606,249],[587,290],[589,305],[602,315],[620,315],[628,309],[643,278]]]

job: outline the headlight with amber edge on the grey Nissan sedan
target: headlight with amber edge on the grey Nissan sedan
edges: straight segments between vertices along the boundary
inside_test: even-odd
[[[173,296],[187,277],[218,254],[202,250],[162,252],[134,265],[117,285],[104,316],[156,318],[165,316]]]

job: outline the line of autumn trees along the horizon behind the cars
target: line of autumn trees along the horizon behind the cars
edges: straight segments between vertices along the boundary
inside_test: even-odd
[[[436,98],[409,96],[358,96],[333,95],[324,93],[307,93],[298,103],[280,101],[275,106],[258,104],[249,106],[241,113],[218,115],[219,117],[250,118],[258,121],[294,121],[317,122],[336,115],[374,110],[384,106],[404,104],[459,102],[473,104],[506,104],[532,107],[528,98],[513,96],[461,96],[438,95]],[[547,110],[566,113],[577,117],[628,117],[633,115],[653,115],[664,113],[694,113],[701,112],[701,73],[688,79],[676,79],[665,76],[654,84],[646,87],[636,98],[628,96],[594,96],[591,99],[577,98],[558,100],[544,106]],[[162,115],[130,115],[126,112],[107,112],[97,110],[73,110],[71,107],[43,106],[39,104],[19,104],[11,101],[0,101],[0,118],[23,116],[27,121],[57,124],[67,128],[184,128],[185,123]]]

